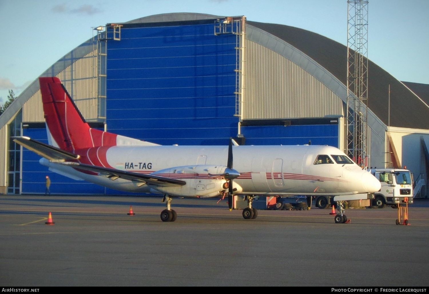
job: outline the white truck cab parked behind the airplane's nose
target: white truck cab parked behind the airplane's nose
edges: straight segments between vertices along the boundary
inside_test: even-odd
[[[408,204],[413,203],[413,176],[409,170],[371,169],[370,172],[381,183],[380,191],[375,192],[373,207],[383,208],[388,205],[397,208],[407,201]]]

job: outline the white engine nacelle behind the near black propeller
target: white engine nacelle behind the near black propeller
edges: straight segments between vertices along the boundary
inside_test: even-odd
[[[151,186],[152,189],[163,194],[180,197],[216,197],[225,191],[224,173],[226,166],[220,165],[190,165],[183,167],[171,167],[158,170],[151,175],[162,176],[171,179],[180,179],[186,182],[183,186]],[[235,187],[236,185],[234,185]]]

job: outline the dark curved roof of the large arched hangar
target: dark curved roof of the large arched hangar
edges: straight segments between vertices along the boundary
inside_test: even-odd
[[[149,23],[169,21],[192,21],[199,19],[224,18],[225,16],[199,13],[166,13],[138,18],[127,23]],[[263,30],[281,39],[307,55],[343,85],[347,82],[347,47],[308,30],[282,24],[269,24],[247,21],[248,27]],[[272,41],[272,40],[270,40]],[[275,45],[270,47],[275,48]],[[389,124],[389,85],[390,85],[390,126],[414,129],[429,129],[429,121],[422,118],[429,116],[428,99],[418,97],[426,84],[405,83],[405,85],[369,61],[368,64],[368,105],[371,112],[384,124]],[[323,82],[323,81],[322,81]],[[414,87],[416,86],[416,87]],[[345,87],[345,86],[344,86]],[[420,89],[420,91],[419,91]],[[414,90],[415,93],[412,91]],[[344,96],[344,95],[342,95]],[[343,98],[344,99],[344,98]],[[426,102],[425,102],[426,101]]]

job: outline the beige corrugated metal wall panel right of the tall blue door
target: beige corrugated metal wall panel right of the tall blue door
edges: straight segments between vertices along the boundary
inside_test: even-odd
[[[320,118],[342,115],[342,101],[287,58],[246,40],[242,119]]]

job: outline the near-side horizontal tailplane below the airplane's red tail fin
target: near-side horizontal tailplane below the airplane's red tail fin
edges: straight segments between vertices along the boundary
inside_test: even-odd
[[[24,146],[25,148],[35,152],[36,154],[48,159],[49,161],[62,162],[66,160],[79,159],[79,155],[66,152],[54,146],[38,142],[30,137],[19,136],[11,137],[11,139]]]

